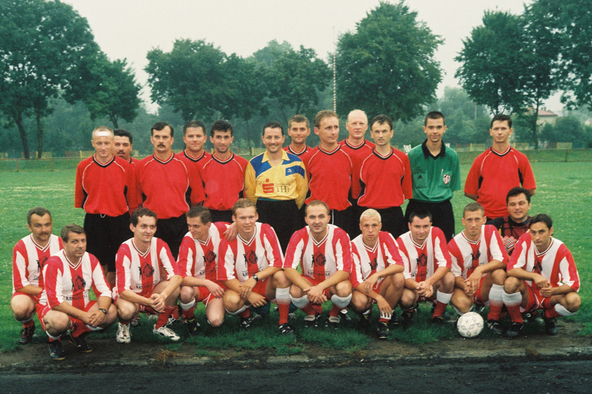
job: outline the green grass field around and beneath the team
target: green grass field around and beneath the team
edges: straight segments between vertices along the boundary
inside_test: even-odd
[[[563,241],[572,251],[580,273],[582,283],[580,295],[582,308],[576,315],[569,318],[582,324],[582,335],[592,335],[592,291],[589,283],[592,280],[592,241],[587,232],[592,206],[592,182],[589,177],[591,164],[587,162],[532,164],[537,182],[536,195],[533,197],[531,214],[546,212],[554,219],[554,235]],[[461,166],[462,179],[469,171],[468,165]],[[78,223],[82,225],[84,212],[73,208],[74,170],[53,172],[5,172],[1,173],[0,183],[0,348],[2,351],[15,349],[18,345],[20,323],[12,319],[10,312],[10,296],[12,289],[12,247],[20,238],[28,234],[25,217],[27,210],[33,206],[45,206],[54,216],[54,234],[58,234],[63,225]],[[462,207],[471,200],[457,192],[453,198],[455,212],[462,212]],[[460,217],[457,214],[457,231],[460,230]],[[455,335],[451,327],[434,328],[427,321],[427,306],[422,306],[425,313],[418,314],[416,324],[405,332],[392,330],[391,339],[409,343],[423,343],[451,338]],[[357,332],[357,317],[344,324],[338,332],[326,330],[303,330],[302,312],[297,312],[294,322],[296,338],[279,338],[276,335],[277,315],[275,312],[263,321],[259,321],[249,332],[238,330],[238,319],[227,317],[226,322],[218,330],[207,325],[202,313],[198,310],[203,334],[188,338],[187,343],[196,345],[196,354],[215,354],[215,349],[236,347],[243,349],[271,348],[276,354],[297,354],[307,343],[316,343],[324,347],[348,349],[355,352],[366,347],[372,336]],[[377,312],[374,319],[377,320]],[[152,325],[141,318],[140,328],[132,331],[134,341],[157,342],[151,333]],[[37,323],[38,325],[38,323]],[[175,323],[174,329],[182,333],[180,324]],[[540,327],[525,327],[525,330],[542,330]],[[106,332],[91,334],[113,338],[116,327],[113,325]],[[488,334],[488,332],[484,332]],[[39,328],[34,341],[45,341]],[[174,347],[175,345],[169,345]]]

